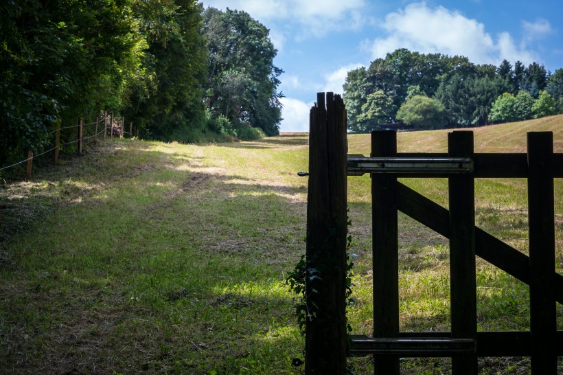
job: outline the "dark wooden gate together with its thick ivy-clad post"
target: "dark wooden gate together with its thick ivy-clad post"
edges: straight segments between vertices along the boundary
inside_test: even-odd
[[[330,183],[331,178],[371,174],[374,336],[352,335],[346,354],[341,336],[338,344],[322,345],[334,340],[329,330],[340,335],[345,332],[345,319],[340,315],[345,302],[343,287],[332,288],[332,299],[317,301],[323,303],[317,315],[334,317],[332,326],[323,330],[314,326],[314,319],[307,321],[306,374],[345,374],[345,356],[364,355],[374,355],[375,373],[386,375],[400,373],[400,356],[452,357],[454,375],[478,374],[479,356],[529,356],[533,375],[557,374],[563,332],[556,326],[556,302],[563,303],[563,277],[555,273],[553,179],[563,177],[563,154],[553,153],[552,133],[528,133],[527,154],[477,154],[473,133],[454,131],[448,134],[447,153],[421,154],[398,153],[394,130],[375,131],[371,133],[371,157],[346,157],[342,141],[345,119],[341,118],[345,109],[340,97],[332,93],[326,95],[325,109],[324,98],[319,93],[311,110],[308,267],[317,267],[319,259],[310,256],[310,249],[327,249],[322,246],[327,234],[321,228],[333,228],[336,217],[328,213],[346,205],[345,187],[341,188],[341,182]],[[448,178],[449,209],[402,185],[398,177]],[[529,256],[475,227],[474,179],[490,177],[527,178]],[[327,189],[329,194],[323,191]],[[398,211],[450,240],[451,332],[399,330]],[[328,250],[345,251],[336,242]],[[528,332],[477,331],[476,255],[529,285]],[[341,257],[327,259],[335,260],[329,268],[342,271]],[[342,277],[334,280],[343,282]],[[323,348],[320,352],[315,349],[319,347]]]

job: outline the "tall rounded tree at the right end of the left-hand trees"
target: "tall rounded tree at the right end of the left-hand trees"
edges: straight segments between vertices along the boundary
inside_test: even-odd
[[[205,104],[233,124],[251,124],[276,135],[281,121],[283,71],[273,64],[277,54],[269,30],[246,12],[207,8],[203,34],[209,49]]]

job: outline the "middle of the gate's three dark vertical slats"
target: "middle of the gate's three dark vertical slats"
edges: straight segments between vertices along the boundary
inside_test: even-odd
[[[473,157],[473,132],[448,133],[448,156]],[[450,176],[448,190],[452,337],[476,339],[475,185],[473,174]],[[452,374],[476,375],[476,356],[452,358]]]

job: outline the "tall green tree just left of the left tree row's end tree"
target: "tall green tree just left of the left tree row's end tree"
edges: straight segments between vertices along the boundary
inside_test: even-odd
[[[203,127],[207,52],[195,0],[135,1],[148,49],[143,80],[132,84],[126,116],[157,139],[189,139]]]

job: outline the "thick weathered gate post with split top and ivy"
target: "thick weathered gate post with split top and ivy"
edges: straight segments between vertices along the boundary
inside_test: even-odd
[[[326,104],[326,107],[325,107]],[[317,93],[310,111],[305,373],[346,371],[346,112],[340,95]],[[317,276],[311,278],[311,276]]]

